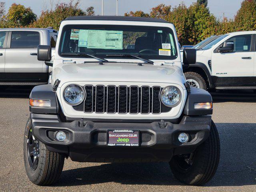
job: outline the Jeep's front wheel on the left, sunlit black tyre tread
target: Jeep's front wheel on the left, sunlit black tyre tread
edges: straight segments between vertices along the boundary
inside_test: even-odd
[[[36,185],[50,185],[56,182],[62,172],[63,154],[51,152],[33,136],[31,121],[26,123],[23,142],[24,163],[28,178]]]

